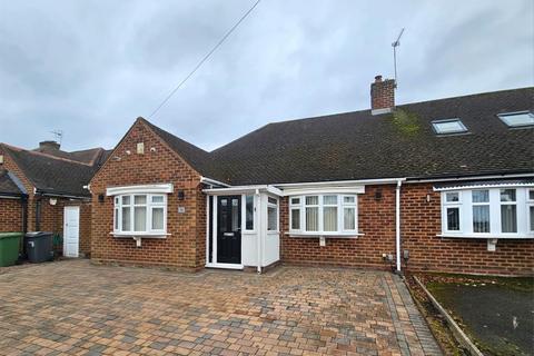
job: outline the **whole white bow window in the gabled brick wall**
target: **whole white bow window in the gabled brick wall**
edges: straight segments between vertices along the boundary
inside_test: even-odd
[[[157,235],[166,233],[167,196],[132,194],[115,197],[113,233]]]

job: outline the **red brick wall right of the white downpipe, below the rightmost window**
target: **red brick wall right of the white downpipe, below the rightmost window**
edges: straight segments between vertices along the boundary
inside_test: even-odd
[[[403,186],[403,249],[408,249],[411,270],[532,275],[533,239],[500,239],[488,251],[485,239],[441,238],[441,197],[432,185]],[[431,201],[427,202],[426,196]]]

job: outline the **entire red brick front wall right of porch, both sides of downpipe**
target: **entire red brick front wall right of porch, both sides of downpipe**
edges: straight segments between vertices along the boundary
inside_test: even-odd
[[[382,191],[382,198],[376,192]],[[429,195],[429,201],[427,201]],[[402,187],[402,250],[409,251],[408,270],[446,273],[532,275],[533,239],[500,239],[488,251],[486,239],[442,238],[441,197],[429,184]],[[356,239],[289,237],[287,198],[280,208],[281,259],[287,264],[388,268],[382,254],[395,256],[395,186],[367,186],[358,197]],[[403,268],[406,266],[403,263]]]

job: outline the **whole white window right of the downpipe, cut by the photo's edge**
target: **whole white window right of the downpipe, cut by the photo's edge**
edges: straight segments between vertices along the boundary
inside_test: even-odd
[[[442,235],[534,237],[534,189],[473,188],[442,191]]]

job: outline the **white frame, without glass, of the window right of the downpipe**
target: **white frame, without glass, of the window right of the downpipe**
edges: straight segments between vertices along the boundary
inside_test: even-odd
[[[501,189],[515,189],[516,201],[504,202],[516,205],[517,233],[502,233],[501,222]],[[475,190],[488,190],[490,202],[473,202],[472,194]],[[532,187],[477,187],[468,189],[445,189],[442,190],[442,233],[441,237],[458,238],[534,238],[534,231],[530,230],[530,206],[534,206],[534,200],[528,199],[528,191]],[[458,192],[459,201],[446,201],[448,192]],[[473,231],[473,206],[490,206],[490,233]],[[448,207],[459,207],[459,231],[447,230],[446,209]]]

